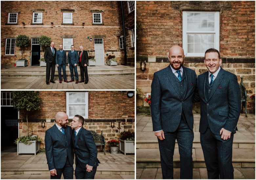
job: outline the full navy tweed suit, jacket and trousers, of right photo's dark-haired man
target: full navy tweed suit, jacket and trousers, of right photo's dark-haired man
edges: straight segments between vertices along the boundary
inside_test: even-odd
[[[241,110],[237,77],[221,68],[210,86],[207,71],[198,76],[198,93],[200,142],[208,179],[233,179],[232,144]],[[231,132],[230,139],[221,139],[222,128]]]

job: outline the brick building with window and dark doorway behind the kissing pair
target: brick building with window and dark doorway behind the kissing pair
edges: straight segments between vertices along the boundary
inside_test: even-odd
[[[69,116],[68,125],[79,114],[85,118],[84,128],[98,134],[102,130],[106,141],[119,139],[119,132],[135,131],[135,97],[129,98],[127,93],[128,91],[40,91],[41,109],[29,113],[29,133],[44,139],[45,131],[55,123],[55,114],[63,111]],[[1,91],[3,146],[5,143],[15,145],[13,139],[27,134],[26,114],[23,111],[17,112],[11,106],[11,96],[12,91]],[[45,122],[44,128],[41,126],[42,122]],[[115,127],[111,127],[111,122],[115,123]],[[40,147],[43,146],[41,143]]]

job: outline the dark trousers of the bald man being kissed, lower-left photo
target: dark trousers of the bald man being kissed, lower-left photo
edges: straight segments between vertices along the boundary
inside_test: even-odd
[[[61,174],[63,174],[64,179],[73,179],[74,168],[73,165],[69,163],[69,159],[67,157],[66,164],[61,169],[56,169],[57,175],[51,176],[51,179],[60,179]]]

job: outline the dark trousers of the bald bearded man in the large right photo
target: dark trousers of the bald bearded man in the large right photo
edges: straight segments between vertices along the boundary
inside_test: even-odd
[[[158,139],[163,179],[173,179],[173,154],[176,139],[179,145],[181,162],[180,179],[192,179],[193,130],[191,130],[188,124],[181,118],[178,129],[175,132],[164,131],[164,137],[165,139],[163,140]]]

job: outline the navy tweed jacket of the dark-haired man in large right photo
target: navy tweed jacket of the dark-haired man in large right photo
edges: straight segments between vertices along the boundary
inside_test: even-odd
[[[208,71],[198,76],[201,106],[199,132],[204,133],[209,123],[211,131],[216,135],[220,134],[221,128],[236,133],[241,111],[241,95],[236,75],[221,68],[208,97],[205,94],[207,81]]]

